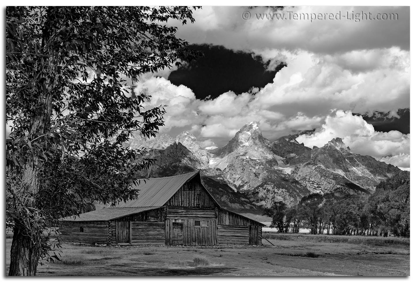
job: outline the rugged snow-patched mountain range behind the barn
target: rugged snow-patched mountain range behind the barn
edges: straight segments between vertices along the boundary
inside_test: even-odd
[[[155,160],[141,177],[163,177],[200,170],[214,197],[239,212],[259,211],[275,201],[292,205],[310,193],[368,195],[399,168],[351,152],[340,138],[312,149],[288,135],[270,142],[257,122],[244,125],[223,147],[206,150],[190,132],[175,138],[134,137],[125,144],[147,148]]]

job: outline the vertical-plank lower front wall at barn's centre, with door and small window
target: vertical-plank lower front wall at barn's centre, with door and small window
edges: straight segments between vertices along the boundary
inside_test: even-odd
[[[195,220],[204,220],[206,227],[197,227]],[[173,244],[173,222],[182,223],[182,245],[184,246],[207,246],[218,245],[217,222],[214,218],[194,218],[194,219],[166,219],[166,245]],[[176,245],[178,243],[176,242]]]

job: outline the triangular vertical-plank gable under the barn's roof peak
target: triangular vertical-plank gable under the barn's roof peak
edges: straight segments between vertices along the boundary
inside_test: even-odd
[[[199,177],[186,182],[168,202],[168,206],[176,207],[215,207],[216,203],[202,186]]]

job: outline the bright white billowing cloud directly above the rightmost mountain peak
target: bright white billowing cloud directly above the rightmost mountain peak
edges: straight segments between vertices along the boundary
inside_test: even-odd
[[[333,138],[340,137],[352,152],[371,155],[400,167],[410,167],[410,134],[392,130],[378,132],[362,116],[351,111],[337,110],[325,118],[322,127],[311,135],[300,135],[298,142],[307,147],[322,147]]]

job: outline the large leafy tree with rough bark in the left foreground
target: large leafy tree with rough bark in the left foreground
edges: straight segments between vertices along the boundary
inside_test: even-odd
[[[151,160],[123,143],[135,131],[155,136],[164,108],[144,108],[149,96],[132,85],[200,55],[163,24],[194,22],[194,9],[7,7],[9,275],[35,275],[41,258],[59,259],[42,231],[60,217],[136,197],[135,172]]]

